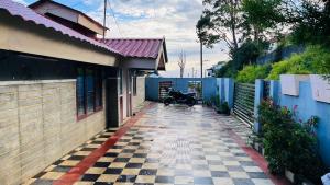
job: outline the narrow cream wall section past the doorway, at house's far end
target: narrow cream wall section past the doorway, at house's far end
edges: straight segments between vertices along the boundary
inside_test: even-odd
[[[132,96],[133,113],[139,112],[145,101],[145,77],[136,78],[136,95]]]

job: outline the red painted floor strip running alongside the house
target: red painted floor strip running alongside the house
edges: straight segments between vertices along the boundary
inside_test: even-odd
[[[80,161],[70,171],[64,174],[59,180],[56,180],[53,185],[73,185],[79,181],[80,176],[91,167],[101,157],[103,157],[107,151],[116,144],[116,142],[125,135],[125,132],[144,115],[143,111],[151,108],[154,103],[146,105],[142,112],[138,113],[134,117],[131,117],[119,130],[114,132],[102,146],[94,150],[89,155],[87,155],[82,161]]]

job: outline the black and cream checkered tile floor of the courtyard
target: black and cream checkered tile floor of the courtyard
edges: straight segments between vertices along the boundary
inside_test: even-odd
[[[227,131],[230,125],[243,128],[240,123],[229,124],[234,122],[201,106],[157,104],[76,184],[273,184]],[[114,131],[98,135],[28,183],[52,184]],[[239,129],[244,138],[243,132]]]

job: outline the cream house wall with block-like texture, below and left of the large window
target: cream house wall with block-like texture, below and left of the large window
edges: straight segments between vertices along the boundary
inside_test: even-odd
[[[0,82],[0,184],[29,180],[105,127],[103,111],[77,122],[75,80]]]

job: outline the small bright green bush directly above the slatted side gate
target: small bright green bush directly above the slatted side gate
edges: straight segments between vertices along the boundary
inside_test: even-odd
[[[245,66],[237,76],[237,81],[241,83],[254,83],[255,79],[265,79],[270,71],[270,65]]]

